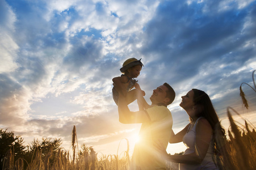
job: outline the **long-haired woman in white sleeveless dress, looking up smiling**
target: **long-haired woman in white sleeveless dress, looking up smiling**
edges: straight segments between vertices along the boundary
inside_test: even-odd
[[[192,89],[186,96],[182,96],[179,105],[190,117],[190,124],[177,134],[172,131],[169,142],[183,141],[187,149],[183,155],[169,155],[161,144],[157,145],[158,149],[166,160],[179,163],[180,170],[218,169],[213,162],[213,152],[218,149],[215,134],[218,129],[218,134],[224,137],[225,131],[220,126],[209,96],[204,91]]]

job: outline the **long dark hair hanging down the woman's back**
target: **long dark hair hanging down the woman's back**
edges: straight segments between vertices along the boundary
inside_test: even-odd
[[[215,147],[215,152],[216,150],[219,152],[220,147],[217,145],[216,138],[225,138],[225,130],[220,125],[219,117],[213,108],[212,101],[209,96],[202,90],[192,89],[192,91],[194,92],[193,100],[195,105],[198,104],[203,107],[202,112],[198,114],[198,117],[202,116],[206,118],[209,124],[212,126],[213,136],[215,138],[213,145]]]

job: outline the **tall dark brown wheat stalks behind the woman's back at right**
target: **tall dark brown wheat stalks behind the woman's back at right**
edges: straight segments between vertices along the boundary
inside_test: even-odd
[[[244,127],[237,126],[230,110],[237,113],[233,108],[227,108],[230,122],[229,139],[221,138],[220,134],[216,134],[217,143],[221,146],[219,150],[221,155],[217,159],[217,164],[220,169],[256,169],[255,127],[253,125],[249,127],[246,120]]]

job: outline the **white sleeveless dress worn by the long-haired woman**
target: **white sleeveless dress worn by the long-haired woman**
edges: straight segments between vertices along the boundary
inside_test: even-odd
[[[199,117],[198,120],[200,118],[202,117]],[[194,127],[190,131],[188,131],[183,137],[183,143],[187,147],[187,149],[184,152],[184,155],[195,152],[196,124],[198,123],[198,120],[196,120]],[[213,136],[212,136],[207,154],[205,155],[204,160],[202,161],[201,164],[179,164],[179,169],[180,170],[219,169],[216,167],[212,159],[212,155],[213,155],[212,143],[213,143]]]

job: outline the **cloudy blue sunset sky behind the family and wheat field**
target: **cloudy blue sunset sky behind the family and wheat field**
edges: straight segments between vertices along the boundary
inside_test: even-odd
[[[226,130],[228,107],[255,126],[255,20],[253,0],[0,0],[0,128],[26,145],[61,138],[70,151],[75,126],[79,146],[120,155],[128,139],[132,154],[141,125],[121,124],[112,99],[112,78],[132,57],[144,64],[137,80],[149,104],[156,87],[174,88],[175,133],[188,124],[179,103],[192,88],[209,95]]]

